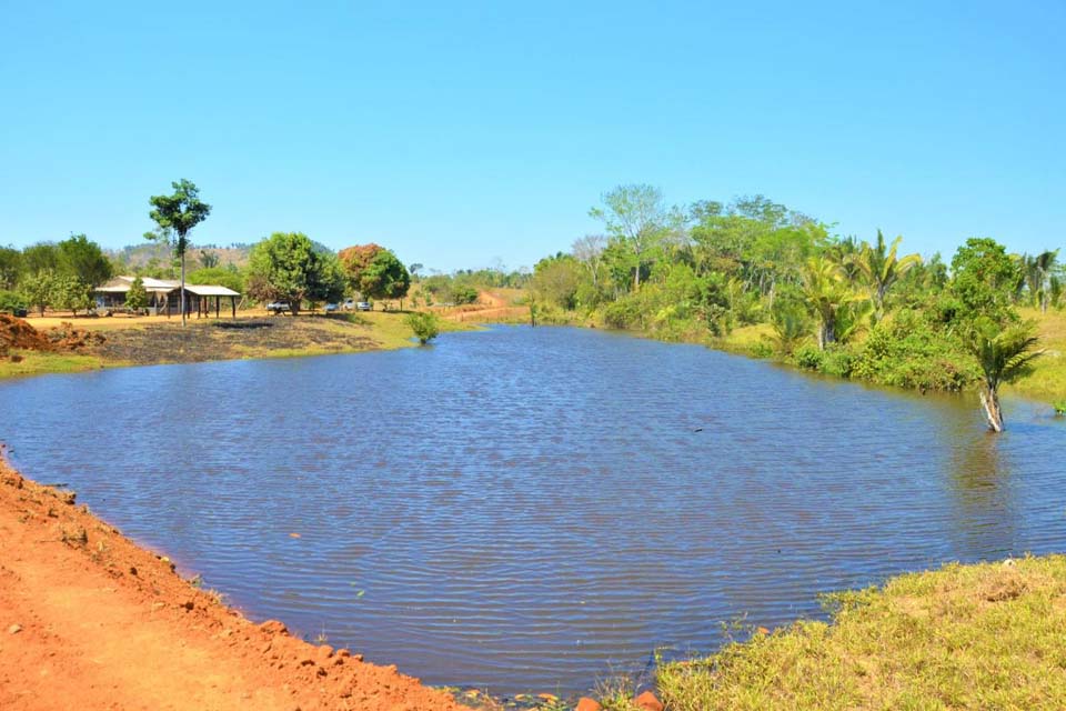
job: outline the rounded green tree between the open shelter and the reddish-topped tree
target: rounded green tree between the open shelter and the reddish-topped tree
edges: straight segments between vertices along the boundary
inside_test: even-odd
[[[303,300],[340,299],[344,274],[336,256],[316,250],[306,234],[274,232],[252,248],[248,292],[260,301],[286,301],[295,316]]]

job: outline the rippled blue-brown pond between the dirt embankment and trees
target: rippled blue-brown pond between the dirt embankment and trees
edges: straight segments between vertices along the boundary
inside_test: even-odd
[[[1062,550],[1048,410],[1008,402],[994,437],[967,398],[500,327],[4,382],[0,439],[252,619],[429,683],[569,693],[819,592]]]

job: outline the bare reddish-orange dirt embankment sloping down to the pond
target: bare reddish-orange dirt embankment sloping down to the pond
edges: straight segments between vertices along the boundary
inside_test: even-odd
[[[464,707],[281,622],[253,624],[0,459],[0,709]]]

